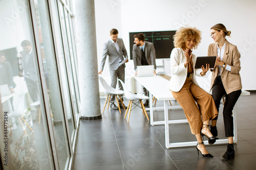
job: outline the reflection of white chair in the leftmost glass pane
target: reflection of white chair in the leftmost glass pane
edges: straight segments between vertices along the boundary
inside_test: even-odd
[[[22,120],[20,120],[20,117],[21,117],[21,118],[23,119],[23,122],[29,127],[29,129],[30,129],[31,131],[33,131],[33,130],[31,129],[31,127],[29,126],[29,124],[26,122],[26,120],[25,120],[25,119],[23,118],[23,116],[22,116],[24,113],[28,113],[28,108],[25,107],[25,104],[26,104],[26,94],[27,94],[27,92],[24,92],[24,93],[22,93],[22,94],[20,95],[20,98],[19,98],[19,102],[18,102],[17,107],[14,109],[14,111],[13,111],[12,113],[10,113],[10,114],[8,115],[8,117],[9,117],[9,118],[13,118],[13,117],[14,117],[15,121],[16,121],[16,119],[18,119],[19,122],[20,122],[20,124],[22,125],[22,128],[24,129]],[[10,126],[10,130],[12,130],[12,129],[11,129],[11,126]],[[24,129],[24,131],[25,131],[25,133],[27,134],[27,132],[26,132],[25,129]],[[27,135],[28,135],[28,134],[27,134]]]

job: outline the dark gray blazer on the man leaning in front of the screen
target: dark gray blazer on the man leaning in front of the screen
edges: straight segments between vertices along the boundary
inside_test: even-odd
[[[155,47],[152,42],[145,42],[145,56],[148,65],[154,65],[156,69],[156,52]],[[134,62],[134,69],[137,69],[138,65],[141,65],[141,50],[140,47],[136,44],[133,45],[133,62]]]

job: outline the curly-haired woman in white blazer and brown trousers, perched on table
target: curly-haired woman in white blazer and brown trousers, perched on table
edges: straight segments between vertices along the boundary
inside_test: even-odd
[[[197,151],[203,157],[213,157],[205,148],[202,136],[208,138],[209,144],[216,142],[208,127],[209,120],[218,115],[212,96],[199,87],[196,76],[205,76],[209,64],[195,69],[196,56],[192,54],[201,42],[201,32],[196,28],[180,28],[174,35],[174,46],[170,54],[170,79],[168,88],[183,108],[192,134],[197,138]],[[196,104],[196,102],[197,104]]]

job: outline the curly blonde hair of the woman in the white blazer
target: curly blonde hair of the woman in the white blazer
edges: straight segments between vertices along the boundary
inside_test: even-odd
[[[185,42],[188,39],[189,36],[195,36],[196,43],[194,45],[194,49],[197,49],[199,43],[201,42],[201,31],[199,31],[197,28],[192,27],[181,27],[179,28],[175,35],[174,35],[174,46],[177,48],[184,48]]]

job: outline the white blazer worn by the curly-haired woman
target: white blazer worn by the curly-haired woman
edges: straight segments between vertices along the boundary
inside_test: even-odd
[[[185,62],[185,52],[182,48],[174,48],[172,53],[170,54],[170,73],[172,74],[172,78],[170,78],[168,89],[178,92],[183,87],[186,77],[187,77],[187,67],[184,66]],[[191,80],[198,85],[196,76],[202,77],[200,72],[202,69],[195,69],[196,64],[196,56],[193,54],[193,74],[190,74]],[[199,86],[199,85],[198,85]]]

